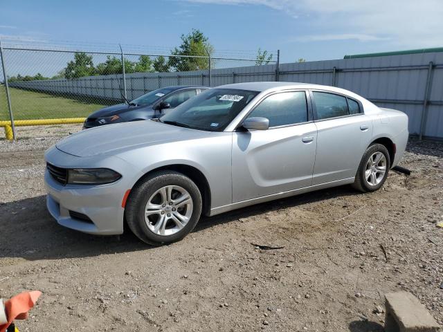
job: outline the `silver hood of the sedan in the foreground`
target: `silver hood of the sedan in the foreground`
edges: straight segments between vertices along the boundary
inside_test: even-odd
[[[145,120],[110,124],[79,131],[64,138],[55,146],[66,154],[89,157],[99,154],[116,155],[119,152],[138,147],[204,138],[208,135],[210,135],[209,131]]]

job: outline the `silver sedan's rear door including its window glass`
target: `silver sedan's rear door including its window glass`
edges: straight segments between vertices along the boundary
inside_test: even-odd
[[[329,91],[310,91],[317,128],[312,185],[352,178],[372,139],[372,120],[358,100]]]

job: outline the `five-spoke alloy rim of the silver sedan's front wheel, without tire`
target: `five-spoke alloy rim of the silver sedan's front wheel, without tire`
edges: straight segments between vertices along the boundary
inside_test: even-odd
[[[192,210],[192,198],[188,191],[178,185],[167,185],[147,200],[145,223],[154,234],[172,235],[186,226]]]

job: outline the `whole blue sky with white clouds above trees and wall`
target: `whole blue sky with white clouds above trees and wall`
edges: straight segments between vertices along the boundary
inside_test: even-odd
[[[443,1],[0,0],[3,41],[120,43],[164,53],[192,28],[223,55],[255,55],[260,47],[280,49],[281,62],[341,59],[443,46]]]

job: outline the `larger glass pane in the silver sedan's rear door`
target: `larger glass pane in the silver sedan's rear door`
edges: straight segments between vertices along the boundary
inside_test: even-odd
[[[318,91],[314,91],[313,94],[318,120],[349,115],[345,97]]]

